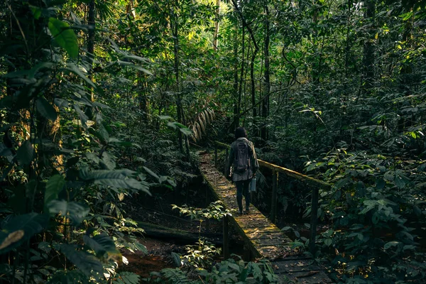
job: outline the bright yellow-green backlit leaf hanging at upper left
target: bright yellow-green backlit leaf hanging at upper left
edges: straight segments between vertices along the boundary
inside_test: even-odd
[[[77,58],[78,56],[78,43],[77,36],[70,26],[58,20],[57,18],[49,18],[48,23],[49,31],[52,33],[53,39],[61,48],[67,50],[70,58]]]

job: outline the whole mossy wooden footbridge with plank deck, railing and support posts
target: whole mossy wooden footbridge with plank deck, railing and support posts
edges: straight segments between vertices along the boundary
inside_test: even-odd
[[[225,149],[228,156],[229,146],[216,142],[215,145]],[[235,209],[236,189],[234,185],[226,180],[223,173],[217,170],[217,153],[200,153],[200,170],[205,182],[212,190],[214,197],[221,200],[226,209]],[[276,217],[278,174],[288,175],[292,178],[302,180],[312,188],[312,211],[310,224],[310,250],[315,250],[315,234],[317,226],[317,204],[318,190],[320,187],[329,187],[325,182],[315,180],[300,173],[286,168],[258,160],[261,167],[273,170],[273,193],[272,209],[270,218]],[[313,264],[311,258],[303,256],[291,247],[290,238],[285,235],[273,222],[266,218],[256,207],[251,205],[250,214],[232,216],[224,219],[224,257],[229,257],[229,223],[231,223],[239,234],[243,236],[246,246],[249,248],[251,258],[266,258],[271,261],[274,272],[282,283],[332,283],[323,268]]]

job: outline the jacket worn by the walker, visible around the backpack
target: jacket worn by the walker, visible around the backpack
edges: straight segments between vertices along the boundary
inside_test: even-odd
[[[258,160],[257,160],[257,157],[256,157],[256,151],[254,151],[253,143],[251,143],[251,141],[249,141],[247,138],[240,137],[240,138],[236,139],[236,141],[234,141],[231,144],[231,150],[229,151],[228,164],[226,165],[226,174],[229,176],[229,174],[231,173],[231,166],[234,166],[236,146],[237,146],[237,143],[241,140],[246,142],[247,145],[249,146],[249,148],[251,148],[251,156],[250,156],[250,165],[251,166],[248,170],[246,170],[246,172],[241,173],[241,174],[235,173],[233,171],[233,173],[232,173],[232,181],[233,182],[238,182],[240,180],[250,180],[251,178],[253,178],[253,174],[256,173],[256,171],[259,168],[259,163],[258,163]]]

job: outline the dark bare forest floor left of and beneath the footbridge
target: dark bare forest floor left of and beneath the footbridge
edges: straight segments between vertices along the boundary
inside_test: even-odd
[[[175,192],[168,190],[158,190],[153,197],[141,197],[129,200],[128,214],[131,219],[137,222],[146,222],[167,227],[168,229],[179,229],[190,233],[198,234],[200,230],[200,222],[197,220],[190,220],[186,217],[180,217],[178,210],[172,209],[172,204],[182,206],[196,206],[190,204],[191,200],[205,200],[205,191],[190,192],[186,191],[185,194],[177,195]],[[187,198],[186,195],[190,195]],[[199,204],[197,207],[204,207],[205,204]],[[143,226],[141,226],[143,229]],[[201,231],[203,233],[222,234],[222,222],[212,221],[203,222]],[[235,253],[241,257],[244,256],[244,241],[235,232],[231,231],[231,253]],[[130,271],[141,276],[141,278],[148,278],[153,271],[161,271],[163,268],[175,268],[175,263],[171,253],[185,254],[185,245],[193,245],[188,241],[188,244],[182,244],[182,240],[175,241],[175,239],[157,239],[151,236],[141,236],[138,241],[146,246],[148,253],[137,251],[131,253],[130,251],[122,251],[122,255],[126,257],[129,264],[122,267],[123,271]],[[222,261],[222,256],[217,258],[217,261]]]

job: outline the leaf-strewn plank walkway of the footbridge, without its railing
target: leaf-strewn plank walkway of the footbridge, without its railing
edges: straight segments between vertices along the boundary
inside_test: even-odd
[[[236,188],[214,168],[213,157],[200,153],[200,170],[212,193],[226,209],[236,209]],[[236,211],[235,211],[236,212]],[[246,241],[254,258],[267,258],[275,274],[283,283],[332,283],[322,268],[312,265],[312,260],[300,255],[290,246],[290,238],[271,223],[256,207],[251,205],[250,214],[229,218]]]

